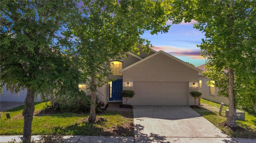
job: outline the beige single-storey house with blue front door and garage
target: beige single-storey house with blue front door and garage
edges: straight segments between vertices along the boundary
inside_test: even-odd
[[[189,94],[198,91],[198,72],[200,69],[176,58],[164,51],[151,50],[140,55],[128,52],[128,57],[119,61],[110,61],[114,82],[98,88],[98,97],[105,103],[123,102],[122,90],[133,90],[135,95],[129,99],[130,105],[194,105],[194,98]],[[86,85],[79,85],[86,90]],[[89,91],[86,90],[89,94]],[[198,100],[197,103],[198,104]]]

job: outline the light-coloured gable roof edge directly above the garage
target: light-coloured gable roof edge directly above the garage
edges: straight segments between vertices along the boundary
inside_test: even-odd
[[[170,58],[180,62],[181,64],[186,65],[187,67],[189,67],[191,69],[194,69],[195,71],[202,72],[202,70],[200,70],[200,69],[198,69],[198,68],[196,68],[196,67],[194,67],[194,66],[192,66],[192,65],[190,65],[190,64],[188,64],[188,63],[186,63],[186,62],[184,62],[184,61],[182,61],[182,60],[180,60],[180,59],[178,59],[178,58],[176,58],[176,57],[174,57],[174,56],[164,52],[164,51],[158,51],[158,52],[156,52],[156,53],[154,53],[154,54],[152,54],[152,55],[150,55],[150,56],[148,56],[148,57],[146,57],[146,58],[144,58],[144,59],[142,59],[142,60],[140,60],[140,61],[138,61],[138,62],[136,62],[136,63],[134,63],[134,64],[132,64],[132,65],[130,65],[128,67],[126,67],[126,68],[124,68],[124,69],[122,69],[122,70],[120,70],[119,72],[123,72],[123,71],[125,71],[127,69],[130,69],[131,67],[133,67],[135,65],[138,65],[139,63],[142,63],[143,61],[146,61],[147,59],[150,59],[150,58],[152,58],[152,57],[154,57],[154,56],[156,56],[156,55],[158,55],[160,53],[162,53],[162,54],[164,54],[164,55],[166,55],[166,56],[168,56],[168,57],[170,57]]]

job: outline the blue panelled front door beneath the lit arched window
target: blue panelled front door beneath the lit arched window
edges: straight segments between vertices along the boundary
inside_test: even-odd
[[[123,80],[118,79],[112,82],[112,100],[122,100]]]

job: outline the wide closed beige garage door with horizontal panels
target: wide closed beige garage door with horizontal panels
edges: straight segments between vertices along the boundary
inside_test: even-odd
[[[134,105],[188,105],[188,82],[133,82]]]

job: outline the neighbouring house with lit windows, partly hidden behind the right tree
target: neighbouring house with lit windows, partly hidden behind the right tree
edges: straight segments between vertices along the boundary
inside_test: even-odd
[[[198,69],[201,69],[203,72],[206,72],[206,68],[205,68],[205,64],[204,65],[200,65],[197,67]],[[224,103],[225,105],[229,104],[229,100],[228,98],[224,97],[224,96],[218,96],[218,92],[219,92],[219,88],[214,87],[214,85],[210,85],[208,86],[208,84],[206,84],[207,81],[211,81],[212,83],[214,83],[215,81],[212,79],[207,78],[206,76],[202,75],[202,72],[198,74],[198,91],[202,93],[202,98],[210,100],[210,101],[214,101],[214,102],[218,102],[218,103]]]

